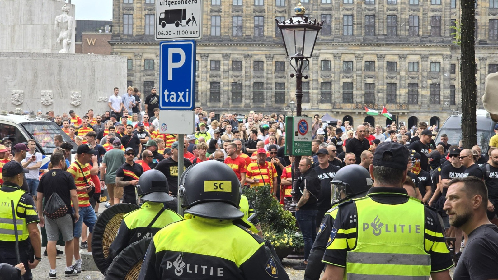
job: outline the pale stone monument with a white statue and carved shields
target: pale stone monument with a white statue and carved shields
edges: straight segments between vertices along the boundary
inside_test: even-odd
[[[126,57],[74,53],[74,4],[0,0],[0,11],[0,109],[97,114],[114,87],[126,92]]]

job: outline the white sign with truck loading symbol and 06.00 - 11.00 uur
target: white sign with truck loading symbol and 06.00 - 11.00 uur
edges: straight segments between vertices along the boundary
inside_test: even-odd
[[[200,39],[202,0],[156,0],[155,40]]]

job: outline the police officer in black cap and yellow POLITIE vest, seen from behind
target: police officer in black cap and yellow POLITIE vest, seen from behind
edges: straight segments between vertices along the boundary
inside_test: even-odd
[[[323,262],[323,280],[451,280],[453,267],[433,208],[403,188],[408,148],[380,143],[366,197],[339,205]]]

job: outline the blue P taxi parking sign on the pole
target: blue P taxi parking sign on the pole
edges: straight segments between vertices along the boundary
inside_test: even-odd
[[[194,109],[195,40],[161,42],[159,48],[159,109]]]

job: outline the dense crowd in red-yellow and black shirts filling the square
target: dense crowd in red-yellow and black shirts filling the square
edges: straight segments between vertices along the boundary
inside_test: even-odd
[[[180,188],[180,160],[183,160],[184,170],[195,163],[220,161],[235,172],[243,187],[269,185],[273,196],[285,209],[295,210],[303,235],[304,260],[294,267],[296,270],[307,269],[317,232],[322,231],[322,220],[327,218],[331,205],[336,202],[331,198],[335,175],[355,164],[371,173],[376,150],[384,145],[383,142],[397,142],[407,147],[407,165],[402,169],[411,180],[405,182],[404,187],[408,194],[434,207],[443,218],[446,237],[456,239],[451,248],[455,261],[458,262],[462,254],[469,233],[462,232],[459,224],[452,223],[451,213],[447,213],[451,209],[446,203],[451,180],[474,176],[484,181],[489,195],[487,217],[498,224],[498,125],[495,127],[497,136],[491,139],[488,153],[482,154],[479,146],[463,149],[461,143],[448,143],[445,134],[435,139],[437,126],[428,126],[425,122],[413,127],[406,127],[402,122],[385,127],[365,122],[353,129],[348,121],[327,123],[314,115],[312,155],[295,162],[294,156],[285,155],[283,115],[250,111],[241,117],[240,113],[232,112],[221,113],[216,119],[215,111],[208,112],[197,106],[195,132],[179,139],[178,135],[159,132],[156,94],[152,89],[143,102],[143,110],[141,93],[128,87],[123,96],[119,96],[119,89],[115,88],[114,95],[109,98],[109,110],[100,115],[92,109],[82,117],[74,110],[57,115],[49,111],[47,115],[78,148],[73,161],[73,144],[56,136],[56,149],[46,170],[40,169],[42,155],[36,152],[34,139],[27,143],[15,143],[15,139],[8,137],[1,140],[3,185],[0,190],[18,193],[17,198],[22,201],[17,204],[18,212],[22,212],[18,217],[25,219],[28,230],[19,234],[23,238],[20,243],[27,246],[25,240],[29,237],[34,251],[34,261],[24,262],[25,278],[29,279],[30,270],[41,259],[41,247],[47,248],[44,255],[50,262],[49,278],[56,278],[55,258],[63,253],[56,248],[57,244],[64,245],[64,274],[79,274],[82,265],[79,248],[92,251],[92,232],[101,200],[106,207],[122,202],[138,204],[136,187],[149,170],[163,174],[169,194],[176,197]],[[183,159],[178,156],[179,149],[183,150]],[[294,184],[296,169],[301,176]],[[15,186],[22,193],[15,192]],[[65,208],[61,208],[64,215],[47,218],[44,203],[55,193],[64,201]],[[102,193],[106,193],[102,195],[105,199],[101,199]],[[294,202],[292,195],[297,199]],[[74,207],[76,204],[78,207]],[[19,211],[19,207],[23,210]],[[36,223],[42,227],[41,241],[38,229],[33,227]],[[10,243],[0,241],[2,250],[9,246]],[[0,263],[11,263],[11,259],[12,256],[0,256]],[[311,277],[307,270],[305,279],[317,278]]]

